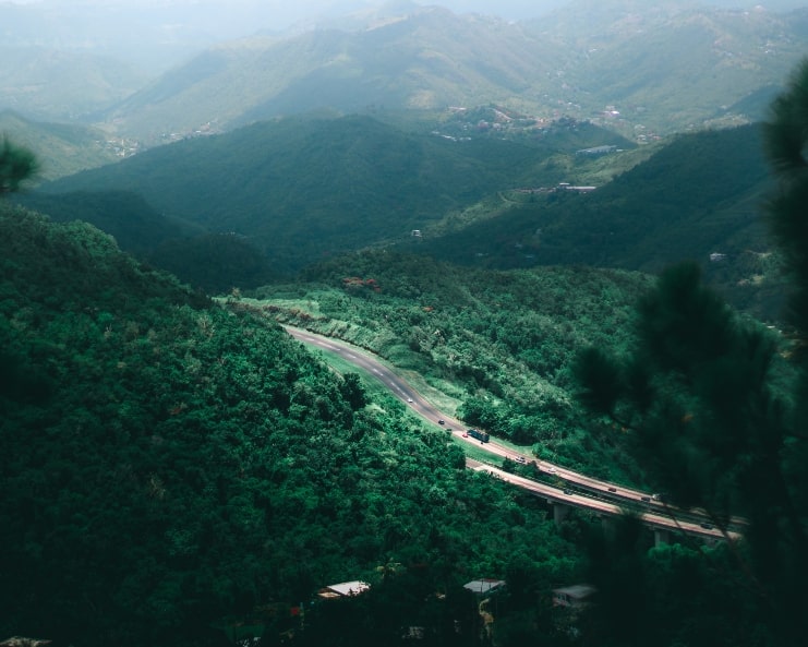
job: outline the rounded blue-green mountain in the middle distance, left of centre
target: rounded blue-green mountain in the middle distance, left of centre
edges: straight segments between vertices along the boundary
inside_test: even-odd
[[[409,240],[412,230],[485,195],[559,176],[543,169],[558,151],[584,141],[624,143],[587,124],[588,136],[571,122],[557,131],[546,140],[534,131],[532,143],[522,143],[407,133],[359,116],[285,119],[153,148],[43,190],[138,193],[168,217],[244,237],[289,273],[335,253]]]

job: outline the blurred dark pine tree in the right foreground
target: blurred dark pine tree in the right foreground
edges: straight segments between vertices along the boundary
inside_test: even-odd
[[[725,532],[735,566],[719,578],[735,582],[752,610],[740,624],[724,616],[735,639],[789,645],[808,630],[808,60],[764,132],[780,180],[767,217],[793,281],[795,339],[738,316],[702,285],[698,266],[682,264],[640,300],[631,350],[590,348],[576,375],[580,402],[625,432],[649,482],[704,508]],[[746,520],[738,541],[728,534],[734,515]]]

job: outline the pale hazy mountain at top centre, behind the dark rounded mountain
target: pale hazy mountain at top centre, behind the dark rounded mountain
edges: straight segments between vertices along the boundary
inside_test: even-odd
[[[155,141],[166,131],[227,130],[318,109],[519,103],[556,59],[518,25],[421,8],[359,31],[255,37],[207,50],[129,97],[107,120]]]

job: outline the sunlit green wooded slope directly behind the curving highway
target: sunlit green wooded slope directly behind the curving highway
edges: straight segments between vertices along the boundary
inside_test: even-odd
[[[268,316],[369,348],[446,394],[471,426],[536,456],[618,481],[636,465],[584,423],[571,366],[582,347],[619,351],[652,278],[587,267],[474,269],[363,251],[255,290]]]

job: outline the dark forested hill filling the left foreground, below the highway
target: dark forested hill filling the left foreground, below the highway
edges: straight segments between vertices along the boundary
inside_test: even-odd
[[[524,564],[544,591],[579,576],[534,499],[467,474],[443,430],[367,404],[280,328],[82,223],[0,204],[0,633],[277,637],[300,630],[292,606],[359,578],[361,615],[309,608],[300,644],[395,644],[415,625],[445,645],[455,620],[469,639],[462,583]]]

